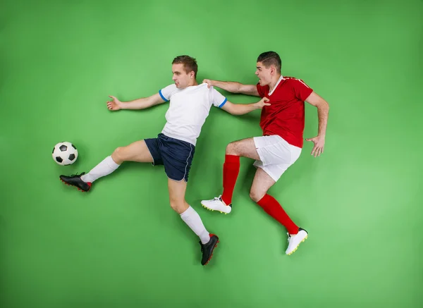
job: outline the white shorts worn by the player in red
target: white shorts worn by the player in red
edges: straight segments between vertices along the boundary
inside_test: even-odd
[[[278,135],[254,137],[253,140],[260,157],[254,166],[262,168],[275,182],[301,154],[300,147],[289,144]]]

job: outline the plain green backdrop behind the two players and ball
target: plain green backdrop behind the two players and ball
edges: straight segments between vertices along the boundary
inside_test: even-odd
[[[417,0],[2,1],[0,306],[422,307],[422,13]],[[162,167],[123,164],[86,194],[59,181],[163,128],[166,104],[114,113],[108,95],[157,93],[180,54],[199,82],[254,84],[269,50],[331,106],[324,154],[305,142],[269,191],[309,231],[292,256],[249,199],[252,160],[232,214],[200,207],[221,193],[226,144],[260,135],[259,111],[214,108],[197,142],[187,200],[221,238],[208,266]],[[51,159],[63,140],[72,166]]]

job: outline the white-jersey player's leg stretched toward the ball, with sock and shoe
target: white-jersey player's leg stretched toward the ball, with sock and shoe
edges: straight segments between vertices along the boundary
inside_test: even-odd
[[[135,141],[128,144],[126,147],[118,147],[110,156],[103,159],[87,174],[82,172],[79,175],[60,175],[60,179],[67,185],[75,186],[78,190],[87,192],[90,190],[94,180],[114,172],[124,161],[152,163],[153,156],[145,140]]]

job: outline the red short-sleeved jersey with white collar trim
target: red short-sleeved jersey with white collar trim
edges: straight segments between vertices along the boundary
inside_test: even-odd
[[[269,94],[269,85],[257,83],[260,97],[267,97],[270,106],[264,106],[260,118],[263,135],[279,135],[286,142],[302,148],[305,125],[304,101],[313,90],[300,79],[281,77],[274,92]]]

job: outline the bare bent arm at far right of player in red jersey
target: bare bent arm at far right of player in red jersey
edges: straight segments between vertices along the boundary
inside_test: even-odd
[[[320,156],[324,150],[324,142],[326,136],[326,126],[328,123],[329,117],[329,104],[322,97],[320,97],[316,92],[309,94],[309,97],[305,100],[307,103],[317,107],[317,116],[319,118],[319,131],[316,137],[307,138],[307,141],[312,141],[314,147],[312,149],[312,155],[314,157]]]

